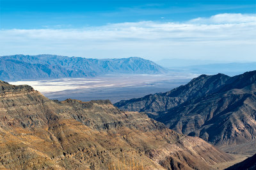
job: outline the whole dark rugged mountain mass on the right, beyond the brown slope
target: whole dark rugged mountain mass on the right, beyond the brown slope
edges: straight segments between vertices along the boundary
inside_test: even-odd
[[[166,93],[115,105],[127,111],[147,112],[177,132],[218,146],[241,144],[256,138],[255,87],[256,71],[234,77],[201,75]]]

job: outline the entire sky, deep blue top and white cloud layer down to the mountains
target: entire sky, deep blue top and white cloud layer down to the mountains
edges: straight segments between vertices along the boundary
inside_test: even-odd
[[[0,56],[256,61],[256,0],[0,0]]]

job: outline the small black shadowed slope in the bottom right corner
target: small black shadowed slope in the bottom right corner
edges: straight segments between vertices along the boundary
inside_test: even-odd
[[[252,157],[246,158],[246,160],[235,164],[234,166],[230,166],[225,170],[255,170],[256,169],[256,154]]]

